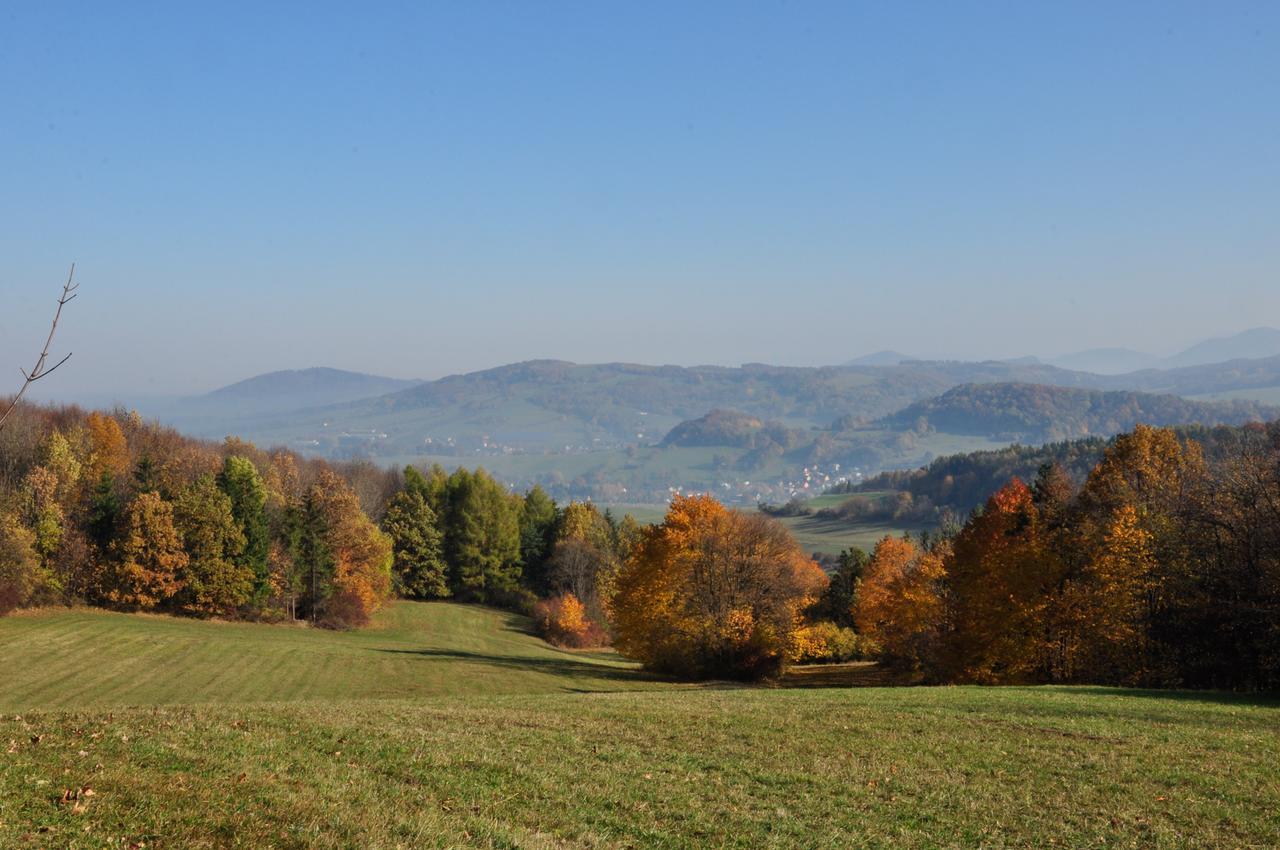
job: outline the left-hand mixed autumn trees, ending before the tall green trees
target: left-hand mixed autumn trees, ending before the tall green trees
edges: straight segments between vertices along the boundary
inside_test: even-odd
[[[0,612],[84,603],[357,626],[390,591],[360,465],[24,406],[0,431]],[[376,501],[376,495],[366,495]]]

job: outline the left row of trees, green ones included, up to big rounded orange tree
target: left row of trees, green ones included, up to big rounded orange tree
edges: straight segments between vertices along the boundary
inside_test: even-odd
[[[134,412],[24,405],[0,431],[0,613],[83,603],[351,627],[393,597],[532,612],[572,593],[603,641],[637,535],[630,516],[483,470],[308,460]]]

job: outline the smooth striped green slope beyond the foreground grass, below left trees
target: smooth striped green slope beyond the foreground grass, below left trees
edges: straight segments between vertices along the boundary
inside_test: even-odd
[[[558,650],[488,608],[399,602],[374,627],[202,622],[102,611],[0,618],[0,710],[419,699],[653,686],[611,653]]]

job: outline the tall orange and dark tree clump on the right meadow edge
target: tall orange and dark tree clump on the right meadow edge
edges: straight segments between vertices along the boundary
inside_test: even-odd
[[[934,681],[1275,689],[1280,424],[1138,426],[1083,484],[1046,463],[955,534],[882,540],[854,597],[883,658]]]

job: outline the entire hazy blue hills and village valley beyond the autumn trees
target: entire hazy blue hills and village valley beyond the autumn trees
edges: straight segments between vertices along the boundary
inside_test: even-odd
[[[201,437],[237,434],[326,457],[484,465],[562,497],[662,501],[675,489],[717,488],[730,501],[751,501],[1015,440],[1275,415],[1260,399],[1280,402],[1280,357],[1124,375],[1034,360],[827,367],[544,360],[421,383],[274,373],[146,412]]]

